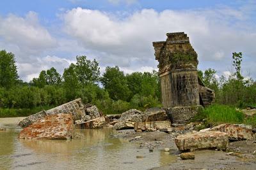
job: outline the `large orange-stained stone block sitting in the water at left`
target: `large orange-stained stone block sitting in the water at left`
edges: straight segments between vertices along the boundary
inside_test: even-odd
[[[48,115],[38,122],[25,127],[20,139],[70,139],[74,136],[74,124],[71,114]]]

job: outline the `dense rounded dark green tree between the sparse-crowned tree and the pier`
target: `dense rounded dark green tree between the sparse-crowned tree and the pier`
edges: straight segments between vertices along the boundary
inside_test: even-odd
[[[106,72],[101,78],[101,83],[109,93],[109,97],[117,101],[118,99],[128,101],[131,91],[127,85],[124,72],[118,66],[106,67]]]

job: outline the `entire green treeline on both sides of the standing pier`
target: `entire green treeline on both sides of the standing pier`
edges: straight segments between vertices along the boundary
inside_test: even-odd
[[[245,107],[256,103],[256,84],[241,75],[242,53],[233,53],[235,73],[216,78],[214,69],[198,71],[205,86],[216,92],[216,103]],[[81,97],[103,113],[122,113],[130,108],[161,107],[159,77],[152,73],[124,74],[118,66],[106,67],[100,76],[97,60],[77,56],[63,75],[54,67],[43,70],[29,83],[19,80],[15,55],[0,51],[0,117],[28,115]],[[26,113],[24,113],[26,112]],[[9,115],[10,114],[10,115]]]

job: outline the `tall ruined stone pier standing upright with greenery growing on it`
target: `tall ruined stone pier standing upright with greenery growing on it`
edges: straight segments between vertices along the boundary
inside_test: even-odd
[[[209,94],[202,82],[198,82],[197,74],[197,54],[189,38],[184,32],[173,32],[166,34],[166,41],[153,42],[156,60],[159,61],[159,77],[161,83],[161,96],[164,108],[203,106],[210,104],[212,96]],[[200,85],[202,87],[200,87]],[[201,93],[200,93],[201,89]],[[202,95],[200,97],[200,94]],[[210,97],[209,97],[210,96]],[[200,102],[201,101],[201,102]],[[180,113],[177,113],[181,111]],[[173,120],[177,122],[187,122],[195,116],[194,110],[175,110],[177,115]],[[184,118],[188,116],[188,118]],[[176,120],[176,118],[178,118]],[[179,118],[182,118],[179,120]],[[186,121],[185,121],[186,120]]]

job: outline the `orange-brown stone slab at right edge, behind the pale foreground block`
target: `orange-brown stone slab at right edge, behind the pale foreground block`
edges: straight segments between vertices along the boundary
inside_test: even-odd
[[[229,139],[256,139],[256,132],[250,125],[221,124],[212,127],[210,131],[226,132]]]

